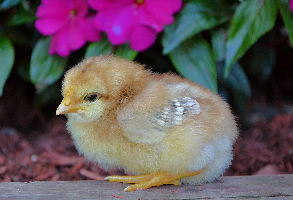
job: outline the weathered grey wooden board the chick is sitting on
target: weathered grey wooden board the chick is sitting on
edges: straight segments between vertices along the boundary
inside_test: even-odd
[[[293,199],[293,174],[227,176],[204,185],[163,185],[123,192],[130,184],[108,181],[0,183],[0,199]]]

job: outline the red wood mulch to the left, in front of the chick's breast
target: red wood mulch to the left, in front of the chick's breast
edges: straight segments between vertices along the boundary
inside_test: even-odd
[[[64,119],[51,124],[33,141],[15,129],[0,129],[0,182],[103,180],[109,174],[76,152]]]

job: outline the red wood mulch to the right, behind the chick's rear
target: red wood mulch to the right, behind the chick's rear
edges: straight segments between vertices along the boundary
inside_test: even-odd
[[[260,121],[241,135],[226,175],[293,173],[293,114]]]

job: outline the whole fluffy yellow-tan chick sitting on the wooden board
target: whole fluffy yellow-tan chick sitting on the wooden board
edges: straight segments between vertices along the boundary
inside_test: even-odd
[[[103,169],[136,176],[124,191],[201,184],[222,176],[238,137],[234,116],[214,92],[170,73],[111,55],[68,70],[56,115],[66,114],[79,153]]]

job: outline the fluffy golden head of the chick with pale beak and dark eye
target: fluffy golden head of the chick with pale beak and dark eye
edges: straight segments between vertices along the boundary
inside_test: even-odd
[[[148,71],[143,66],[113,56],[86,59],[66,72],[56,115],[66,114],[77,122],[109,116],[134,92],[132,86],[142,84],[144,73]]]

